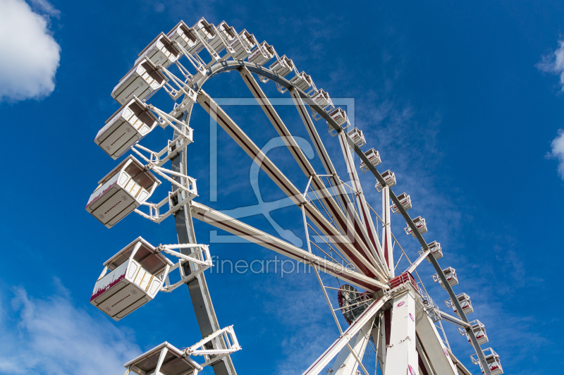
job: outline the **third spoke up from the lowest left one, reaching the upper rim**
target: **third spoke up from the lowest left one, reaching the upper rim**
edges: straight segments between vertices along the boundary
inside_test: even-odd
[[[305,176],[311,180],[311,185],[314,192],[319,192],[321,203],[324,205],[324,207],[326,207],[327,210],[329,210],[329,214],[331,214],[332,218],[336,222],[336,226],[338,226],[339,230],[341,230],[341,233],[343,233],[345,237],[349,238],[349,240],[353,242],[357,251],[359,251],[364,255],[364,257],[369,259],[372,264],[376,264],[376,259],[374,258],[376,254],[373,248],[370,249],[372,250],[372,252],[367,248],[367,245],[371,245],[371,242],[364,240],[364,238],[362,238],[362,236],[360,235],[360,231],[362,229],[358,225],[359,221],[355,221],[355,225],[353,226],[353,224],[350,223],[350,221],[348,221],[348,219],[345,217],[345,214],[343,214],[343,211],[341,211],[341,209],[338,207],[337,202],[335,201],[335,199],[333,199],[331,190],[325,186],[321,177],[318,176],[317,173],[315,173],[313,166],[309,163],[307,157],[305,156],[304,152],[302,152],[302,149],[300,149],[298,143],[295,142],[293,135],[283,123],[280,116],[278,116],[278,113],[274,109],[274,106],[272,106],[269,99],[266,98],[266,95],[259,87],[257,80],[252,77],[250,71],[247,68],[241,68],[239,70],[239,73],[245,81],[247,87],[249,87],[252,95],[255,97],[255,99],[257,99],[257,102],[266,114],[266,117],[269,118],[269,121],[274,126],[278,135],[283,138],[284,143],[288,147],[290,153],[293,155],[295,161],[298,162],[298,165],[302,169]]]

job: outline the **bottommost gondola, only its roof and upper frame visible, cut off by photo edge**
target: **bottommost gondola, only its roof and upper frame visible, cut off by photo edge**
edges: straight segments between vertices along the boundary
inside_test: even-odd
[[[128,371],[125,374],[163,374],[190,375],[197,374],[202,366],[166,341],[148,352],[123,365]]]

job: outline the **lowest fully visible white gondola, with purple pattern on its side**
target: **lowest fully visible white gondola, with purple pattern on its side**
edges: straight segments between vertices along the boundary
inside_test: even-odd
[[[171,266],[173,262],[139,237],[104,263],[90,303],[118,321],[153,300]]]

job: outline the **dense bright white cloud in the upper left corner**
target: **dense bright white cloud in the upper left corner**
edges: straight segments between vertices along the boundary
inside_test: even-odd
[[[32,1],[59,16],[45,0]],[[0,0],[0,102],[47,97],[55,88],[61,47],[49,33],[48,20],[23,0]]]

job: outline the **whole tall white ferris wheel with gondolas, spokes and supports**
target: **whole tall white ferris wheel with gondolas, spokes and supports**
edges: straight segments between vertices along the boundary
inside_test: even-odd
[[[231,71],[238,71],[300,166],[305,175],[301,187],[292,183],[203,90],[207,80]],[[288,92],[324,171],[314,170],[259,82],[274,82],[281,94]],[[173,99],[171,111],[149,103],[159,90]],[[375,375],[376,369],[369,371],[363,364],[369,350],[376,353],[376,368],[384,375],[471,374],[450,350],[443,321],[457,326],[472,345],[472,362],[479,365],[482,374],[503,374],[496,352],[480,347],[488,342],[484,324],[467,319],[474,311],[470,296],[453,290],[458,284],[455,269],[439,266],[441,244],[424,240],[425,219],[411,219],[407,213],[412,208],[410,195],[392,191],[396,176],[390,170],[380,173],[376,169],[382,162],[379,152],[374,148],[361,150],[367,144],[362,130],[353,128],[347,113],[336,107],[329,94],[318,89],[288,56],[279,56],[268,43],[259,43],[247,30],[236,32],[225,21],[216,26],[201,18],[192,27],[180,21],[141,51],[111,96],[121,108],[106,121],[94,142],[114,160],[132,153],[99,180],[86,210],[107,228],[133,212],[155,223],[173,216],[168,221],[176,225],[178,244],[154,246],[137,237],[104,262],[90,302],[118,321],[153,300],[157,293],[171,293],[186,284],[202,333],[202,340],[188,348],[180,350],[164,342],[132,359],[125,364],[126,375],[197,374],[207,366],[217,375],[236,374],[231,355],[241,346],[233,326],[222,328],[214,312],[205,278],[205,271],[214,265],[212,250],[197,242],[194,219],[312,267],[338,334],[304,375],[324,371],[331,375],[361,371]],[[197,202],[196,180],[188,176],[187,152],[195,142],[190,128],[195,104],[209,113],[301,211],[305,248]],[[171,140],[157,151],[140,145],[157,126],[171,128]],[[320,130],[328,131],[340,145],[347,176],[338,176]],[[360,158],[359,166],[354,154]],[[376,178],[375,188],[382,197],[381,215],[367,202],[357,168]],[[149,202],[149,198],[157,197],[161,180],[170,183],[171,190],[162,192],[158,203]],[[413,262],[391,232],[394,214],[405,220],[407,238],[412,236],[421,246]],[[312,233],[322,241],[312,240]],[[393,252],[397,248],[402,253],[399,259]],[[401,271],[398,265],[403,257],[409,266]],[[419,278],[417,267],[426,259],[436,271],[433,280],[448,293],[446,307],[452,307],[456,316],[439,309]],[[325,285],[320,273],[337,278],[338,288]],[[338,314],[343,314],[347,327],[341,326]]]

